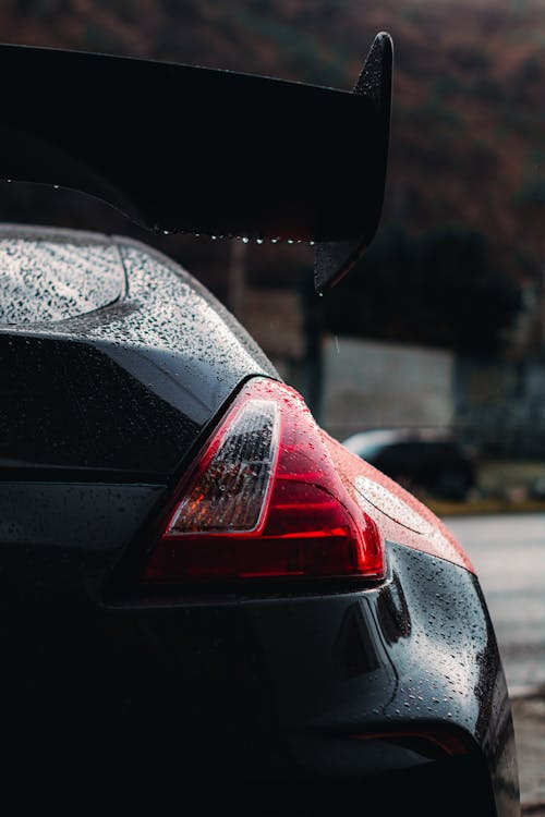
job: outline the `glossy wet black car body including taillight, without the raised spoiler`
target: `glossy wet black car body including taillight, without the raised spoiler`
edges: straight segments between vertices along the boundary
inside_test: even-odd
[[[518,814],[493,627],[439,520],[165,256],[5,227],[0,270],[4,802]],[[280,425],[223,501],[249,405]],[[255,524],[195,521],[207,492],[245,511],[262,461]]]

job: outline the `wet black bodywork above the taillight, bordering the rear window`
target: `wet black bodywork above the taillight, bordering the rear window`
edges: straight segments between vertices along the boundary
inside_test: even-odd
[[[40,241],[84,249],[93,241],[73,231],[3,233],[20,246],[28,241],[34,253]],[[1,470],[165,480],[244,379],[277,377],[234,318],[178,265],[129,240],[101,242],[121,259],[124,297],[75,317],[0,328]]]

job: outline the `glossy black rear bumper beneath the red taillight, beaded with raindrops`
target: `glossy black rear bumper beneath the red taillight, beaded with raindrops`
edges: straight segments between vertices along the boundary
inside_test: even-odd
[[[46,651],[39,672],[36,645],[14,668],[4,791],[165,807],[191,794],[203,815],[518,814],[476,581],[395,545],[389,565],[374,589],[57,617],[55,668]]]

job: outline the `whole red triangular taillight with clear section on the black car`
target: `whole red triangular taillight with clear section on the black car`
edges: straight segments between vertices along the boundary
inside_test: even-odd
[[[301,397],[255,379],[185,484],[146,578],[372,578],[384,571],[379,532],[344,488]]]

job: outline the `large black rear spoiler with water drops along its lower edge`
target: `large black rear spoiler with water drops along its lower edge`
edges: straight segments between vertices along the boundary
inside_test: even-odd
[[[157,231],[314,242],[318,291],[376,232],[387,34],[352,92],[9,45],[0,66],[0,179],[82,191]]]

